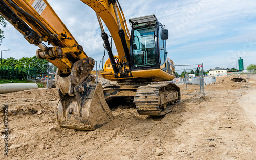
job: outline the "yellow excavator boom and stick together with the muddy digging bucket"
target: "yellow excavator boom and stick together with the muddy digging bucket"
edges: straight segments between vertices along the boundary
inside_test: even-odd
[[[82,2],[90,6],[108,27],[120,57],[129,54],[130,35],[117,1]],[[91,75],[95,61],[89,58],[46,0],[1,0],[0,14],[31,44],[36,54],[57,68],[55,78],[60,101],[56,109],[61,127],[95,130],[113,118],[101,84]],[[103,31],[102,37],[106,36]],[[120,38],[121,36],[121,38]],[[108,36],[106,36],[108,37]],[[104,40],[105,41],[105,40]],[[107,41],[107,40],[106,40]],[[47,47],[44,42],[51,44]],[[108,44],[106,42],[105,44]],[[125,46],[126,48],[124,49]],[[113,57],[113,55],[111,55]]]

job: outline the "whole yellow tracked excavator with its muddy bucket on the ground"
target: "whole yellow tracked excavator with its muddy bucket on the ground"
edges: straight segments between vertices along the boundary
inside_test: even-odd
[[[140,115],[171,112],[172,105],[180,101],[180,89],[168,82],[175,78],[175,67],[167,57],[165,25],[155,15],[141,16],[129,19],[129,32],[118,0],[81,1],[95,11],[109,56],[102,77],[118,85],[95,83],[91,74],[95,60],[86,55],[46,0],[0,0],[0,14],[30,44],[39,47],[39,59],[58,68],[58,125],[76,130],[100,128],[114,118],[107,101],[115,98],[132,97]],[[113,38],[116,56],[102,21]]]

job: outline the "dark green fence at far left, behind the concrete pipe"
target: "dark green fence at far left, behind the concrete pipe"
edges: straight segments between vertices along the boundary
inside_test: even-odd
[[[25,80],[27,78],[29,68],[13,67],[13,66],[0,66],[0,79],[19,79]],[[36,67],[30,68],[30,77],[36,78]]]

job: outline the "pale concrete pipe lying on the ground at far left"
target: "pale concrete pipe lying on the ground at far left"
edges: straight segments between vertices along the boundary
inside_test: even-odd
[[[30,89],[38,89],[37,84],[36,83],[0,84],[0,94],[24,91],[24,90],[30,90]]]

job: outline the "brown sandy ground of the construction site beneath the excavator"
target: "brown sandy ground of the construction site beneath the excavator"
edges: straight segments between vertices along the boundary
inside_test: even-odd
[[[112,110],[115,119],[95,131],[57,126],[57,89],[1,94],[0,159],[255,159],[256,77],[251,82],[230,78],[205,86],[205,96],[183,96],[164,117],[119,106]]]

